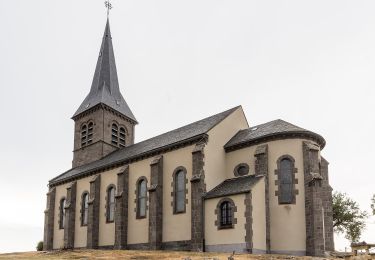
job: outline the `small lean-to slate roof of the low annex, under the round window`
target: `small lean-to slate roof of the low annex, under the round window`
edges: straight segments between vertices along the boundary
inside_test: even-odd
[[[218,186],[207,192],[204,198],[212,199],[249,192],[262,177],[263,175],[249,175],[225,180]]]

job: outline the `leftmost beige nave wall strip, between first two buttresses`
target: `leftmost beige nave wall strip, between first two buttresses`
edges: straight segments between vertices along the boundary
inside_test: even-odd
[[[66,187],[68,187],[68,185],[69,184],[63,184],[56,187],[53,249],[61,249],[64,247],[64,229],[59,229],[59,207],[60,200],[63,197],[66,199]]]

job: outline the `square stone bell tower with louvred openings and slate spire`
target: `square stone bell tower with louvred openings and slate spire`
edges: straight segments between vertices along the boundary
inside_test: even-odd
[[[134,143],[137,120],[120,92],[109,19],[90,92],[72,119],[75,122],[73,167],[99,160]]]

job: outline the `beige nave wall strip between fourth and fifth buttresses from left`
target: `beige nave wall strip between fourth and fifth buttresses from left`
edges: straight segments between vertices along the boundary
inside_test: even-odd
[[[147,187],[150,186],[151,161],[152,158],[148,158],[129,165],[128,244],[148,243],[149,211],[147,210],[146,218],[136,218],[135,190],[137,180],[142,176],[147,178]]]

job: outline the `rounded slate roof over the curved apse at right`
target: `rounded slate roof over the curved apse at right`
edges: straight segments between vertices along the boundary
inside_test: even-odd
[[[323,148],[326,144],[324,138],[319,134],[303,129],[299,126],[295,126],[284,120],[277,119],[265,124],[240,130],[232,139],[228,141],[224,148],[228,152],[256,143],[284,138],[312,139],[316,141],[321,148]]]

